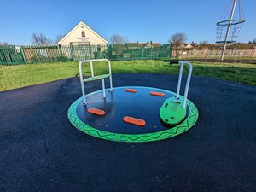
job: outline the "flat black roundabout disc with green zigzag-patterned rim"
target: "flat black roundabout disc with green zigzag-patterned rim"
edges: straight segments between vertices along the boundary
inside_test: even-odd
[[[161,94],[152,95],[150,92]],[[129,86],[115,87],[113,92],[107,89],[106,97],[103,98],[102,90],[98,90],[86,95],[87,105],[83,104],[83,97],[73,102],[67,116],[76,128],[93,137],[115,142],[154,142],[188,131],[198,119],[195,104],[188,100],[186,116],[178,125],[168,126],[160,120],[161,106],[166,99],[175,95],[169,90]],[[90,108],[105,113],[90,113]],[[129,122],[133,119],[136,119],[135,123]]]

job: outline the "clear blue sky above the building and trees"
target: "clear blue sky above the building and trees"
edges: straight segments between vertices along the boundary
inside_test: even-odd
[[[230,0],[3,1],[0,42],[31,44],[32,33],[55,39],[83,20],[108,41],[119,33],[130,42],[166,44],[173,33],[184,32],[188,43],[214,43],[215,24],[229,3]],[[256,0],[243,0],[242,5],[246,22],[237,42],[248,42],[256,38]]]

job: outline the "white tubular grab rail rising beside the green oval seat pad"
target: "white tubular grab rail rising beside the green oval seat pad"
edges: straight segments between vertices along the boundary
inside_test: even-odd
[[[183,99],[183,108],[186,108],[186,103],[187,103],[187,97],[189,93],[189,84],[190,84],[190,79],[191,79],[191,74],[192,74],[192,64],[188,61],[179,61],[178,64],[180,64],[179,68],[179,75],[178,75],[178,82],[177,82],[177,99],[179,99],[179,92],[180,92],[180,86],[181,86],[181,79],[183,77],[183,65],[187,64],[189,65],[189,74],[186,82],[186,87],[185,87],[185,93],[184,93],[184,99]]]

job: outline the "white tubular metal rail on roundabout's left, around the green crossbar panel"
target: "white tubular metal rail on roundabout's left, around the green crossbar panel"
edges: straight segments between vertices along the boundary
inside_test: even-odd
[[[94,76],[94,71],[93,71],[93,65],[92,65],[93,61],[107,61],[108,62],[110,91],[113,91],[113,83],[112,83],[112,73],[111,73],[110,61],[108,61],[107,59],[95,59],[95,60],[79,61],[79,76],[80,76],[80,83],[81,83],[81,89],[82,89],[82,94],[83,94],[84,105],[87,104],[87,100],[86,100],[86,95],[85,95],[85,90],[84,90],[84,77],[83,77],[83,71],[82,71],[82,64],[85,63],[85,62],[90,62],[90,74],[91,74],[91,77],[96,77],[96,76]],[[105,93],[105,81],[104,81],[104,78],[102,78],[102,90],[103,90],[103,98],[105,98],[106,97],[106,93]]]

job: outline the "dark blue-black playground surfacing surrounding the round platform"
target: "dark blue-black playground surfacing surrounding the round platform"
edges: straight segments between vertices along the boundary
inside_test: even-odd
[[[175,91],[177,76],[115,74],[113,85]],[[0,93],[1,192],[256,191],[256,87],[192,77],[193,128],[160,142],[114,143],[68,121],[79,86],[73,78]]]

